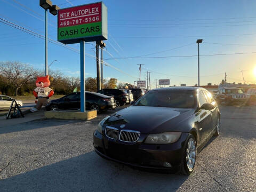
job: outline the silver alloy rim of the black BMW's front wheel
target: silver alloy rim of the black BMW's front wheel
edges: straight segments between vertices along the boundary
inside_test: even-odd
[[[186,150],[186,161],[188,170],[193,170],[196,162],[196,143],[193,138],[190,138],[188,141],[188,146]]]

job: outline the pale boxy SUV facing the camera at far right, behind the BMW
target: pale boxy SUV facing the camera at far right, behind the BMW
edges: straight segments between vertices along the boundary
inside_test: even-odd
[[[221,103],[225,102],[226,105],[233,104],[246,104],[250,99],[250,95],[243,92],[240,88],[220,88],[217,94],[215,94],[215,99]]]

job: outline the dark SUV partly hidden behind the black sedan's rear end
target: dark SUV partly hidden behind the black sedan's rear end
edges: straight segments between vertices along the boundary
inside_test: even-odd
[[[102,90],[99,90],[98,93],[114,97],[117,106],[122,106],[125,103],[129,103],[128,93],[126,93],[126,91],[124,90],[102,89]]]

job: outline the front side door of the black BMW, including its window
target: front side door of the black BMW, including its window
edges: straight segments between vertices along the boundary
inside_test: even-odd
[[[205,94],[202,90],[198,91],[198,103],[199,107],[203,106],[204,103],[208,103]],[[200,109],[197,112],[197,116],[199,116],[198,120],[198,141],[201,144],[207,139],[207,136],[211,130],[212,125],[212,116],[210,110]]]

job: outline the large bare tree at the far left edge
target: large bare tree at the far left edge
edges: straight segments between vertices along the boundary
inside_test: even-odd
[[[14,86],[17,96],[19,88],[33,79],[36,71],[25,63],[6,61],[0,62],[0,74],[7,84]]]

